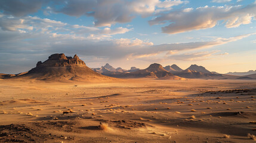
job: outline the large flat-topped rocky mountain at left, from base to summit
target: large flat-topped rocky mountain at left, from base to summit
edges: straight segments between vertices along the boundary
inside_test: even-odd
[[[21,77],[61,82],[68,80],[86,82],[116,80],[91,70],[77,55],[72,58],[66,57],[64,54],[50,55],[48,60],[44,62],[38,61],[35,68],[29,70],[26,74],[14,78]]]

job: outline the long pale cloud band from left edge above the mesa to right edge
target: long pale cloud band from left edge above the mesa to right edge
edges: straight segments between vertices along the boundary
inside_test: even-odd
[[[215,38],[206,42],[154,45],[150,41],[137,38],[111,38],[112,35],[132,30],[125,27],[98,29],[31,16],[16,18],[5,15],[0,19],[0,27],[2,29],[0,31],[0,52],[73,53],[73,51],[76,51],[85,56],[107,57],[110,59],[140,58],[169,51],[209,48],[238,41],[255,34],[239,35],[232,38]],[[24,32],[21,32],[22,30]]]

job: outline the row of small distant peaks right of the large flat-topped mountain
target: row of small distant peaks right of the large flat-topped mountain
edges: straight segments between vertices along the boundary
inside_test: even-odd
[[[206,70],[205,67],[197,66],[196,64],[192,64],[186,70],[181,69],[176,64],[172,64],[172,66],[162,67],[161,64],[150,64],[147,69],[140,70],[135,67],[131,67],[130,70],[121,69],[118,67],[115,69],[110,66],[110,64],[106,64],[101,68],[93,68],[92,70],[97,71],[105,76],[111,77],[121,77],[121,78],[137,78],[137,77],[152,77],[152,78],[164,78],[168,79],[168,77],[177,78],[206,78],[206,79],[225,79],[227,76],[223,76],[223,74],[219,74],[216,72],[211,72]],[[229,76],[230,77],[230,76]]]

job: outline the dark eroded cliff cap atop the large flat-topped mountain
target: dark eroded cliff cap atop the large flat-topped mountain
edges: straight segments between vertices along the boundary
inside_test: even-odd
[[[53,54],[50,55],[48,60],[38,61],[36,67],[69,67],[69,66],[86,66],[84,61],[80,60],[78,55],[74,57],[66,57],[64,54]]]

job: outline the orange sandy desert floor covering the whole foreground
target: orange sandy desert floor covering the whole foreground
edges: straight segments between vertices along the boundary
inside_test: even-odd
[[[0,142],[256,142],[255,99],[256,80],[0,80]]]

